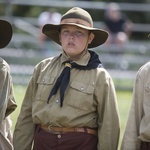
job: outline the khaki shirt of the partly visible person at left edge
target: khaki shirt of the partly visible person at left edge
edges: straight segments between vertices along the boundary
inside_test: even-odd
[[[11,150],[11,120],[9,115],[17,105],[13,93],[13,84],[8,64],[0,58],[0,149]]]

